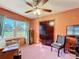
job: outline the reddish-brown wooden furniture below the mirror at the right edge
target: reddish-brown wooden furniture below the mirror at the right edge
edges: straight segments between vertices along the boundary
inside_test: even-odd
[[[78,36],[66,37],[65,51],[75,54],[76,59],[79,59],[79,37]]]

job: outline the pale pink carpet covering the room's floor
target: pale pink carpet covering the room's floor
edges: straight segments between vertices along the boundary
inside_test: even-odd
[[[57,49],[53,48],[51,52],[50,46],[42,44],[33,44],[21,49],[22,59],[75,59],[73,54],[64,54],[63,49],[60,52],[60,57],[57,56]]]

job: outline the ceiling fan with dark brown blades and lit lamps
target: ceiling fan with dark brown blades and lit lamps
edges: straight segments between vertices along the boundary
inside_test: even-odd
[[[43,9],[39,7],[39,4],[42,3],[42,6],[47,3],[48,0],[33,0],[33,3],[27,2],[26,4],[32,7],[32,10],[28,10],[25,13],[30,13],[33,12],[34,14],[40,15],[40,10],[45,11],[45,12],[52,12],[50,9]]]

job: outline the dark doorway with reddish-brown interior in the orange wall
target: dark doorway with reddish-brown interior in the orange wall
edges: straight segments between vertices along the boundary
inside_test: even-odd
[[[55,21],[44,21],[40,22],[40,42],[44,45],[50,46],[54,42],[54,26]]]

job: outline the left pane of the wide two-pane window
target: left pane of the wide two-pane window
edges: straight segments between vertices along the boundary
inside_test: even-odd
[[[6,18],[4,20],[4,38],[14,37],[14,20]]]

